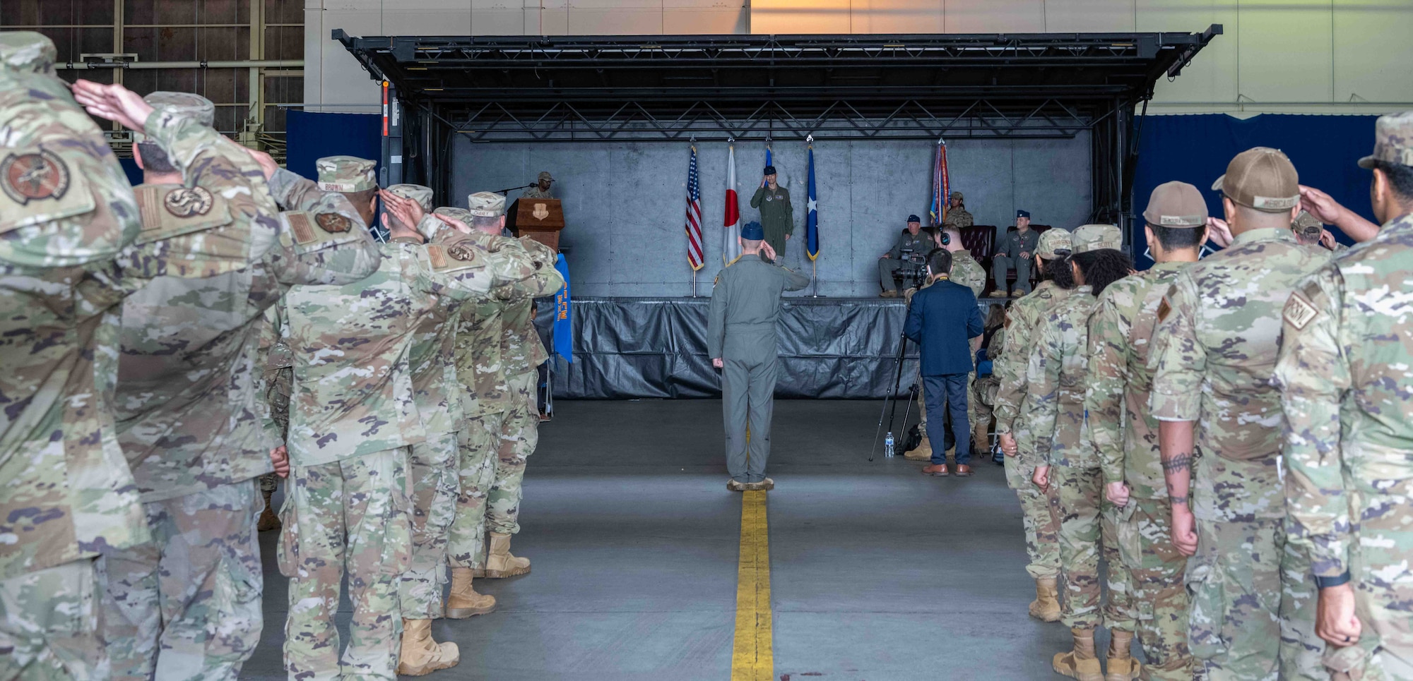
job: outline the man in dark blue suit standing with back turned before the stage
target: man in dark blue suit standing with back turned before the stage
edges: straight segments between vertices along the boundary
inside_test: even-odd
[[[947,420],[952,415],[957,441],[957,473],[972,475],[971,425],[966,422],[966,376],[981,345],[983,322],[971,288],[948,281],[952,254],[937,249],[927,254],[927,274],[933,284],[913,295],[903,333],[918,345],[923,363],[923,394],[927,404],[927,438],[941,444]],[[924,475],[945,476],[947,452],[933,446],[933,463]]]

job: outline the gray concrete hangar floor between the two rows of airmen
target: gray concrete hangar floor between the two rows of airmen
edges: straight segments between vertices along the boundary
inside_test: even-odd
[[[1000,466],[938,479],[901,456],[868,462],[880,405],[776,403],[776,677],[1060,678],[1050,656],[1068,632],[1026,615]],[[560,401],[540,432],[513,547],[534,571],[476,582],[495,613],[434,624],[462,663],[430,678],[729,680],[740,496],[725,489],[721,403]],[[261,535],[266,630],[242,678],[284,678],[274,541]]]

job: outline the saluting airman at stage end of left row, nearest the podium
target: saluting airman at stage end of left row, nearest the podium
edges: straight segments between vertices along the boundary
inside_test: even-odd
[[[456,374],[466,386],[468,437],[461,452],[461,496],[451,531],[451,564],[485,576],[486,533],[519,531],[520,480],[538,439],[536,367],[547,357],[534,331],[533,300],[564,285],[547,246],[503,239],[530,254],[540,270],[462,308]],[[487,523],[489,520],[489,523]]]

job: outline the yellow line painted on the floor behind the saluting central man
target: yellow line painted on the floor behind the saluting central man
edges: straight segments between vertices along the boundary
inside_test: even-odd
[[[770,521],[766,492],[740,495],[740,562],[736,568],[736,643],[731,681],[773,681],[770,641]]]

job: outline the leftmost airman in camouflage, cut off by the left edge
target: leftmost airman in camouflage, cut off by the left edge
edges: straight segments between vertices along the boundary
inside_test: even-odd
[[[93,558],[147,540],[112,420],[141,225],[54,58],[0,32],[0,678],[106,678]]]

